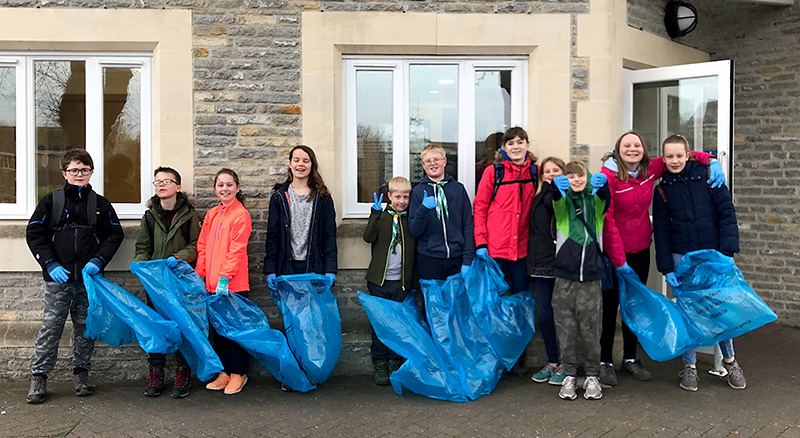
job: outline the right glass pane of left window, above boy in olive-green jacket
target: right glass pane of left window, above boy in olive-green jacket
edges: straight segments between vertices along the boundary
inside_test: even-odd
[[[141,201],[141,71],[103,69],[105,196],[111,202]]]

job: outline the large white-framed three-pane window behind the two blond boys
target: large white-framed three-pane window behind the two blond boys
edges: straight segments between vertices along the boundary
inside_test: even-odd
[[[393,176],[417,184],[420,151],[444,148],[447,173],[474,196],[499,137],[522,125],[527,60],[344,58],[344,216],[366,217]],[[498,135],[499,133],[499,135]]]

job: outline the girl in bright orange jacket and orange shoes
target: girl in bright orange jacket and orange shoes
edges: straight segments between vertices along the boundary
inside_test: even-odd
[[[214,177],[214,194],[220,203],[206,213],[197,240],[197,274],[205,278],[209,293],[235,292],[247,297],[250,281],[247,267],[247,241],[253,229],[250,213],[244,207],[239,190],[239,176],[231,169],[222,169]],[[225,390],[232,395],[247,383],[250,354],[236,342],[211,330],[214,350],[224,368],[206,385],[213,391]]]

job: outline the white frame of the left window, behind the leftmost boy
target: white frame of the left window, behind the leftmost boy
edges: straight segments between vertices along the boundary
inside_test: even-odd
[[[86,151],[92,155],[95,171],[92,188],[104,193],[103,155],[103,68],[139,68],[140,92],[140,199],[138,203],[114,203],[120,219],[138,219],[152,196],[153,162],[153,70],[152,53],[107,52],[0,52],[0,67],[16,67],[16,174],[17,202],[0,204],[0,219],[28,219],[36,208],[36,126],[34,69],[36,61],[83,61],[86,68]]]

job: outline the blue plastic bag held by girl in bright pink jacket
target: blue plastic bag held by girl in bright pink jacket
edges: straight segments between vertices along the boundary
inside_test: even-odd
[[[680,356],[697,341],[697,331],[672,300],[648,288],[633,272],[617,271],[622,320],[642,348],[660,362]]]

